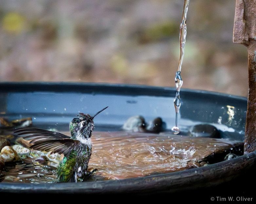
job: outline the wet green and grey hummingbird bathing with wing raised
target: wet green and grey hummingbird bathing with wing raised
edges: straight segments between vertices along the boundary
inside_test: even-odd
[[[52,153],[64,154],[64,158],[57,168],[59,182],[82,182],[93,171],[88,171],[88,162],[92,154],[91,136],[94,130],[94,116],[79,113],[69,124],[71,137],[62,133],[33,127],[19,128],[14,134],[26,140],[31,149],[40,151],[52,151]]]

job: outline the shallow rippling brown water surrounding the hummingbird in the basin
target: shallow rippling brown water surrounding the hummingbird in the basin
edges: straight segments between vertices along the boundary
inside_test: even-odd
[[[67,133],[66,133],[67,134]],[[192,138],[172,134],[94,132],[89,169],[97,168],[90,180],[125,179],[195,167],[206,157],[241,145],[227,139]],[[56,162],[44,164],[24,159],[3,172],[5,182],[57,182]]]

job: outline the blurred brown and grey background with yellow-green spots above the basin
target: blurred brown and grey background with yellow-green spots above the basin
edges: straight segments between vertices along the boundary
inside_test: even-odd
[[[174,86],[183,0],[0,0],[0,80]],[[247,96],[235,0],[191,0],[183,87]]]

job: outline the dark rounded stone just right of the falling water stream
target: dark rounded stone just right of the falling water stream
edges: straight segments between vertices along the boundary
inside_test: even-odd
[[[219,138],[220,133],[216,127],[210,124],[193,125],[189,130],[191,137]]]

